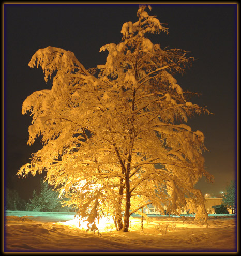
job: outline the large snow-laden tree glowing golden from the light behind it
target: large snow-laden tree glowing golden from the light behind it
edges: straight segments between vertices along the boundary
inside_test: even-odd
[[[39,49],[28,65],[40,65],[46,81],[57,71],[53,86],[28,96],[22,107],[33,116],[28,144],[41,136],[43,148],[18,174],[46,171],[80,217],[95,224],[111,214],[124,232],[144,206],[178,214],[186,198],[196,219],[206,221],[204,197],[194,186],[202,176],[212,179],[204,168],[204,135],[185,124],[209,111],[191,103],[195,93],[173,77],[185,73],[191,58],[147,38],[168,29],[145,10],[141,5],[138,21],[123,25],[120,43],[100,48],[109,54],[97,68],[86,70],[70,51]]]

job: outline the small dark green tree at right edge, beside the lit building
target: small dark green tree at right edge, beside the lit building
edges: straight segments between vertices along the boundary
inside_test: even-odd
[[[231,180],[230,184],[226,187],[222,202],[225,207],[232,210],[232,214],[236,213],[236,186],[234,180]]]

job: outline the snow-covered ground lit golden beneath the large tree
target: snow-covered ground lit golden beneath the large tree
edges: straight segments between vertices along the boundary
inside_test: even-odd
[[[136,215],[130,232],[115,231],[111,221],[97,224],[101,236],[86,232],[74,213],[5,212],[5,252],[237,252],[236,217],[209,215],[206,225],[179,217]]]

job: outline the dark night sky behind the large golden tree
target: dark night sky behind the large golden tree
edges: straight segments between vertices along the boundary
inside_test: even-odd
[[[28,199],[39,188],[39,178],[18,178],[40,143],[26,145],[29,114],[22,102],[40,89],[50,89],[41,69],[27,65],[33,54],[48,46],[72,51],[85,68],[104,64],[107,43],[119,43],[125,22],[137,21],[138,4],[4,4],[5,89],[5,187]],[[150,15],[168,23],[169,34],[155,36],[163,49],[188,50],[194,61],[184,77],[176,77],[183,89],[200,92],[191,100],[207,106],[215,115],[201,115],[188,123],[205,135],[206,170],[215,176],[211,185],[202,179],[203,193],[225,191],[236,176],[236,41],[237,4],[152,4]]]

